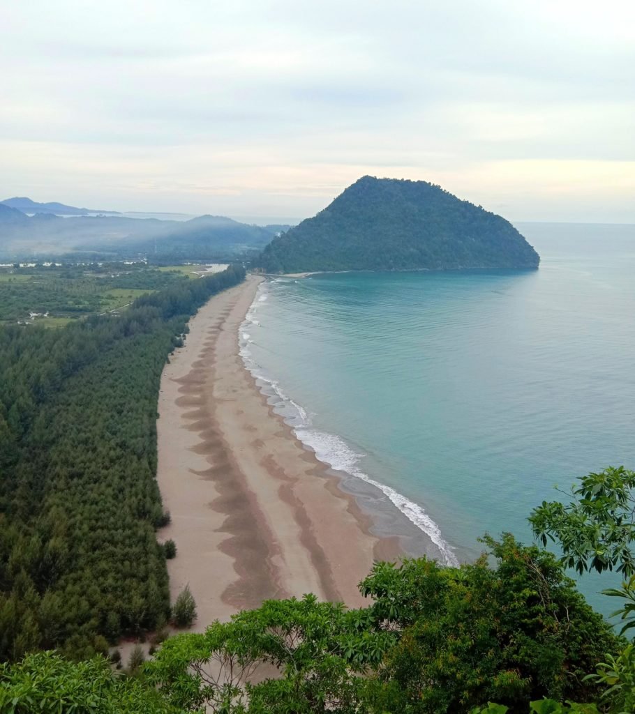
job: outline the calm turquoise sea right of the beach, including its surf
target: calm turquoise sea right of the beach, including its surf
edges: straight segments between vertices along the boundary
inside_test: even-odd
[[[271,403],[378,531],[448,563],[485,532],[531,540],[554,485],[635,468],[635,226],[518,228],[538,271],[274,278],[241,328]],[[580,586],[606,612],[614,582]]]

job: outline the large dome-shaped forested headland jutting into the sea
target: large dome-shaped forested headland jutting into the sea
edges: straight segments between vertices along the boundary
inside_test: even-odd
[[[314,218],[266,246],[269,273],[537,268],[501,216],[426,181],[364,176]]]

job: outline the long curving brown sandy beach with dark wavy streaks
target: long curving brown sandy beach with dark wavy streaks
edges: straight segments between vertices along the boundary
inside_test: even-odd
[[[266,598],[311,592],[360,605],[359,580],[399,548],[370,533],[244,367],[238,331],[261,280],[201,308],[161,378],[157,478],[171,523],[159,538],[176,542],[171,595],[189,584],[195,630]]]

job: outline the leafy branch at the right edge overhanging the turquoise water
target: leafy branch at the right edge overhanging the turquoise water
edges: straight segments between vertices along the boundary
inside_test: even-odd
[[[573,486],[574,501],[564,506],[544,501],[529,518],[536,538],[548,538],[561,546],[568,568],[614,568],[626,576],[635,574],[631,551],[635,541],[635,472],[624,466],[589,473]]]

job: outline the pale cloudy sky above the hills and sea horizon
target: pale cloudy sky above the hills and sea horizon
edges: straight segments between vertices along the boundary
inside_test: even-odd
[[[631,0],[0,0],[0,198],[304,218],[360,176],[635,223]]]

